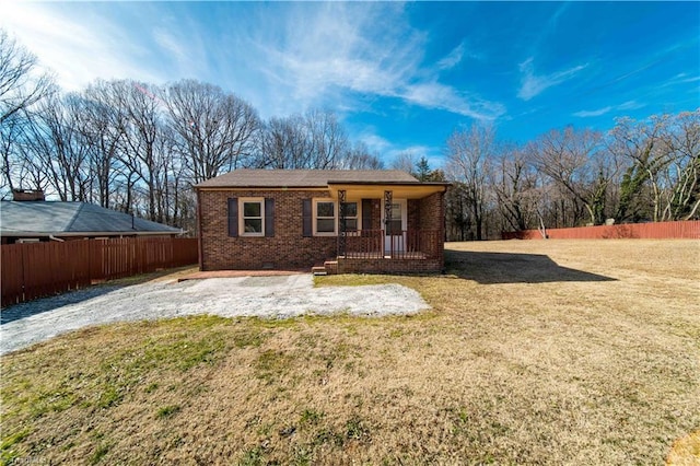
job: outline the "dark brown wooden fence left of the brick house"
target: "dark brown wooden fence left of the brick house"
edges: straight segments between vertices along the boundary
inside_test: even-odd
[[[80,240],[0,247],[2,306],[95,281],[196,264],[197,238]]]

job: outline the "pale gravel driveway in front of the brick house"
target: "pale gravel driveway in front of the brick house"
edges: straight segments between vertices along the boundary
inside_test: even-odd
[[[151,281],[93,287],[2,311],[0,354],[90,325],[194,314],[287,318],[348,313],[382,316],[430,308],[400,284],[314,288],[311,275]]]

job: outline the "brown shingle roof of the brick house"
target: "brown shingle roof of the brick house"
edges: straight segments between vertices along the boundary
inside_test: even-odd
[[[328,183],[416,183],[400,170],[236,170],[197,188],[320,188]]]

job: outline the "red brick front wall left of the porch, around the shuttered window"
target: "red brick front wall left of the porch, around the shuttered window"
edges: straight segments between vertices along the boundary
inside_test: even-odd
[[[275,199],[273,237],[230,237],[229,198]],[[202,190],[201,269],[302,269],[336,256],[336,236],[302,236],[302,200],[328,191]]]

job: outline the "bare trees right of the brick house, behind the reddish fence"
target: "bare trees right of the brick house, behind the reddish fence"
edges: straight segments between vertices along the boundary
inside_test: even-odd
[[[700,218],[700,109],[619,118],[607,132],[568,126],[525,144],[492,127],[452,133],[446,166],[451,240],[502,231]]]

